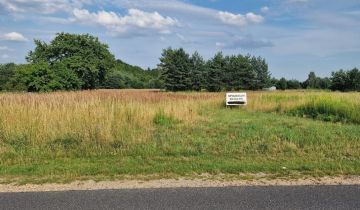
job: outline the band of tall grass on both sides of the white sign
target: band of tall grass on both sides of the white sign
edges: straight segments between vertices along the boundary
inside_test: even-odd
[[[248,111],[290,113],[328,121],[360,123],[360,94],[249,92]],[[158,123],[191,126],[203,109],[219,109],[223,93],[98,90],[0,94],[0,139],[29,145],[76,139],[97,145],[147,141]],[[20,140],[19,140],[20,141]],[[23,143],[25,144],[25,143]],[[1,146],[1,145],[0,145]]]

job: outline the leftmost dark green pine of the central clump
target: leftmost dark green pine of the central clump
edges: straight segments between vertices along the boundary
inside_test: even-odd
[[[167,90],[191,90],[191,61],[184,49],[164,49],[160,61],[159,67]]]

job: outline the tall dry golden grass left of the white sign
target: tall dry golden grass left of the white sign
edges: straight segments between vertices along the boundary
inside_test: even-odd
[[[138,90],[0,94],[0,137],[32,144],[73,137],[82,142],[146,141],[157,112],[191,125],[214,94]]]

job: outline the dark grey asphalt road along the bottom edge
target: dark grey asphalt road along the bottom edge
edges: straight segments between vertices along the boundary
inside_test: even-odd
[[[360,186],[0,193],[0,209],[360,209]]]

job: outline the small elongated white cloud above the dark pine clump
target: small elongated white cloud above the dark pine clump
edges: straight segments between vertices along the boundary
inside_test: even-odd
[[[252,12],[242,15],[220,11],[218,12],[218,17],[225,24],[239,27],[244,27],[249,23],[261,23],[264,21],[264,18],[261,15],[256,15]]]

